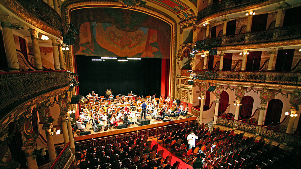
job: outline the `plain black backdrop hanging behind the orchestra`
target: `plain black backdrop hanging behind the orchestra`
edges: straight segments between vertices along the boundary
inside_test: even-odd
[[[161,60],[142,58],[120,62],[115,59],[92,61],[100,57],[76,55],[79,93],[83,96],[95,91],[99,96],[105,96],[105,91],[111,89],[113,95],[134,94],[160,95],[161,92]],[[118,58],[126,59],[126,58]]]

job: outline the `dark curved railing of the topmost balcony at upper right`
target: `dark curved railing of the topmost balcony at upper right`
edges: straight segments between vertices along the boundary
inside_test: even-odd
[[[209,5],[208,7],[198,12],[198,20],[205,18],[206,16],[209,16],[214,13],[218,13],[228,9],[238,8],[250,4],[259,3],[261,1],[266,1],[266,0],[222,0],[219,1],[218,3]]]

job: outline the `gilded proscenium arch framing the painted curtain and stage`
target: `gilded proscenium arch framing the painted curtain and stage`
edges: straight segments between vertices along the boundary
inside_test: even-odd
[[[136,6],[135,8],[127,8],[123,6],[120,2],[108,2],[108,1],[66,1],[61,5],[62,21],[64,25],[70,23],[70,14],[71,11],[80,9],[80,8],[121,8],[129,9],[137,12],[142,12],[148,14],[152,17],[161,19],[162,21],[168,23],[171,26],[171,52],[170,52],[170,72],[169,78],[169,95],[171,98],[174,98],[175,95],[175,85],[176,85],[176,56],[177,56],[177,22],[171,16],[162,13],[152,7],[140,7]],[[75,62],[74,62],[74,51],[72,47],[69,47],[70,50],[67,55],[67,62],[71,71],[74,71]]]

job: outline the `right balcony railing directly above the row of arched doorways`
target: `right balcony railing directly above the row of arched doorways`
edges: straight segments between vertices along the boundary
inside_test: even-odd
[[[193,70],[193,75],[199,75],[208,80],[239,81],[253,83],[270,83],[281,85],[301,85],[300,73],[294,72],[248,72],[248,71],[211,71]]]

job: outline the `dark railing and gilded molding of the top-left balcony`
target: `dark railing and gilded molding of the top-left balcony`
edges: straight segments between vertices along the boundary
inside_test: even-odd
[[[2,0],[0,3],[27,23],[63,39],[59,30],[62,27],[61,17],[46,3],[21,0]]]

